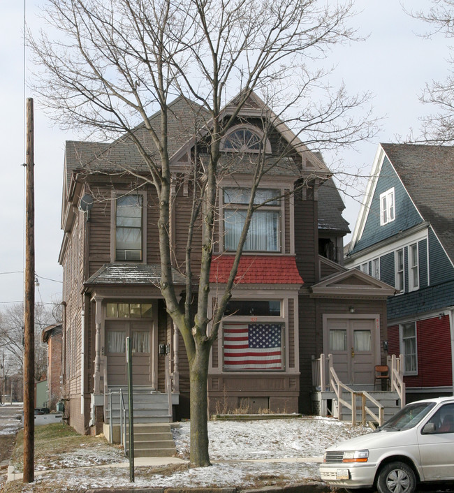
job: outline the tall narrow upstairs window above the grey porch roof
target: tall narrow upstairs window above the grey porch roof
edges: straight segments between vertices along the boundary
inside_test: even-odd
[[[142,196],[117,198],[115,260],[142,260]]]

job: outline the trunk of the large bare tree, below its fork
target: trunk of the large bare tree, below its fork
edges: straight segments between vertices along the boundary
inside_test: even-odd
[[[210,466],[208,455],[208,361],[210,360],[209,344],[197,345],[196,355],[190,363],[189,381],[191,388],[191,448],[189,460],[191,466]]]

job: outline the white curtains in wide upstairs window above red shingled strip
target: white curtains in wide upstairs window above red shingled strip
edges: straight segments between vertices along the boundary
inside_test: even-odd
[[[246,221],[245,211],[226,212],[226,250],[235,250]],[[279,251],[279,212],[256,211],[249,225],[244,251]]]

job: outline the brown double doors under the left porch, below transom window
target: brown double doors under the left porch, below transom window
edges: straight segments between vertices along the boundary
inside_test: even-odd
[[[152,324],[148,321],[105,321],[108,385],[127,385],[126,337],[131,337],[133,385],[152,385]]]

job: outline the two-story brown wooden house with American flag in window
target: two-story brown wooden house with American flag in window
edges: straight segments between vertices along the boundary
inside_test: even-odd
[[[194,155],[200,161],[205,157],[203,142],[192,135],[194,108],[177,98],[168,125],[175,176],[169,225],[173,281],[182,296],[191,208],[188,169]],[[221,142],[221,164],[229,172],[219,180],[212,307],[232,265],[258,149],[275,165],[261,182],[257,200],[265,205],[254,213],[233,298],[213,347],[211,413],[240,406],[312,412],[312,358],[330,352],[330,341],[346,381],[372,383],[374,365],[386,359],[381,341],[386,339],[386,297],[393,289],[342,267],[342,237],[349,228],[330,171],[281,122],[274,120],[265,135],[265,109],[252,95]],[[159,115],[151,122],[158,125]],[[141,127],[135,135],[147,139]],[[188,415],[189,367],[158,287],[158,206],[154,187],[140,180],[144,172],[127,138],[109,144],[66,142],[59,256],[66,302],[62,373],[69,422],[79,432],[98,433],[104,425],[106,434],[115,434],[106,429],[119,418],[128,336],[136,400],[142,403],[135,418],[169,421]],[[200,231],[195,258],[197,245]],[[358,340],[360,361],[351,349]]]

